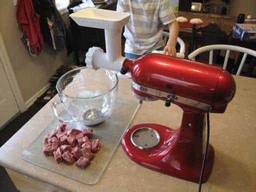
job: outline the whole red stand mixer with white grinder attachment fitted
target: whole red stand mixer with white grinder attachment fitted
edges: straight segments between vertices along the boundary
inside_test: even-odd
[[[145,101],[160,99],[165,106],[174,103],[183,109],[182,122],[176,130],[149,123],[128,128],[121,140],[126,154],[147,168],[205,182],[214,161],[211,145],[207,145],[204,156],[205,114],[225,111],[235,93],[231,74],[209,64],[162,54],[146,54],[135,61],[122,57],[121,28],[128,21],[128,13],[86,8],[70,16],[80,26],[105,29],[106,52],[99,47],[90,48],[85,59],[87,67],[129,71],[135,97]],[[199,179],[202,159],[204,174]]]

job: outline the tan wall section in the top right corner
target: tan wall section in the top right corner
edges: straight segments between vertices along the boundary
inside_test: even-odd
[[[233,16],[244,13],[256,17],[256,0],[230,0],[227,13]]]

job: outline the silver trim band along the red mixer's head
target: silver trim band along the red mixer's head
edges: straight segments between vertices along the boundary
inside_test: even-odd
[[[143,93],[148,93],[152,96],[156,96],[156,97],[160,97],[160,98],[167,98],[167,96],[171,96],[171,97],[173,96],[175,102],[186,104],[186,105],[189,105],[189,106],[193,106],[193,107],[196,107],[196,108],[199,108],[199,109],[202,109],[202,110],[206,110],[206,111],[209,111],[209,109],[210,109],[210,105],[207,104],[207,103],[199,102],[199,101],[192,100],[190,98],[185,98],[185,97],[182,97],[182,96],[177,96],[175,94],[171,94],[171,93],[168,93],[168,92],[155,90],[153,88],[148,88],[146,86],[139,85],[139,84],[135,83],[134,81],[131,82],[131,86],[135,90],[138,90],[138,91],[143,92]]]

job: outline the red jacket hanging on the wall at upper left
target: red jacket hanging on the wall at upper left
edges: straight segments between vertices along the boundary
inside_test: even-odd
[[[39,54],[43,49],[44,41],[39,25],[40,15],[34,11],[32,0],[17,0],[16,16],[34,53]]]

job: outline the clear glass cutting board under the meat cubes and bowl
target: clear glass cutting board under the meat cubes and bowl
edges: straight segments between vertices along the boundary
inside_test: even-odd
[[[43,137],[56,128],[57,119],[53,120],[29,147],[22,151],[22,157],[33,164],[52,170],[68,178],[85,184],[94,184],[106,167],[115,148],[119,144],[124,130],[129,125],[138,107],[138,102],[118,98],[111,116],[101,124],[93,127],[93,138],[99,138],[101,145],[100,150],[96,153],[90,165],[85,169],[81,169],[75,164],[70,165],[64,162],[57,164],[53,156],[43,155]],[[70,129],[77,125],[79,126],[77,123],[67,124],[67,128]]]

